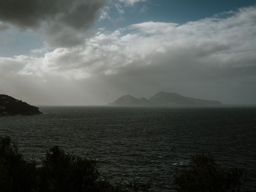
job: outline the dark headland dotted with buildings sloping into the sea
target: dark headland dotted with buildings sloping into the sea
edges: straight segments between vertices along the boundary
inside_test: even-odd
[[[38,107],[17,100],[11,96],[0,94],[0,116],[42,114]]]

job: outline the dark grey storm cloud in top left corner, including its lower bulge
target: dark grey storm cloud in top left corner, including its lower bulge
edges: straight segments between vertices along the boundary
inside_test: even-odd
[[[82,34],[90,29],[107,1],[0,0],[0,21],[21,29],[45,28],[46,36],[52,36],[50,44],[65,40],[62,46],[73,46],[82,42]]]

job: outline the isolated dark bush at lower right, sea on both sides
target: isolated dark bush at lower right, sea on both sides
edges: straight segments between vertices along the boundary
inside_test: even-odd
[[[189,166],[174,177],[178,192],[240,192],[243,172],[238,168],[222,168],[212,155],[196,155]]]

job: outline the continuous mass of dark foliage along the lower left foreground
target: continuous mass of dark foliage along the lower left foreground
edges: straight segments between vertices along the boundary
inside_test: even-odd
[[[96,162],[50,148],[36,167],[24,159],[10,137],[0,137],[1,192],[148,192],[150,182],[116,182],[100,179]]]

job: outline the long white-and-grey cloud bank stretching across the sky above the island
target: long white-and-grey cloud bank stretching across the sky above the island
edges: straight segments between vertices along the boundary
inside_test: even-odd
[[[0,68],[9,76],[82,81],[86,89],[115,94],[166,90],[198,97],[204,90],[201,98],[242,102],[247,93],[247,101],[256,103],[255,27],[256,7],[182,25],[144,22],[114,32],[102,29],[79,46],[40,58],[1,58]]]

